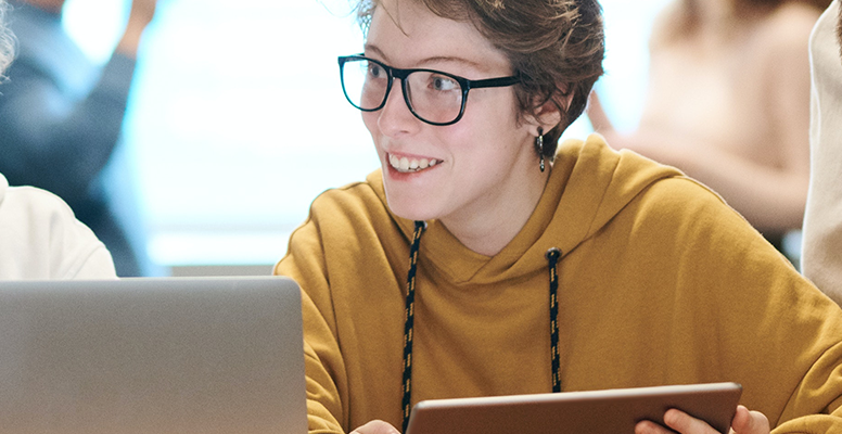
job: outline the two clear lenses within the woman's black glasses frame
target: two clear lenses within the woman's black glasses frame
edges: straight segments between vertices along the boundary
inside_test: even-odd
[[[383,65],[367,59],[346,61],[342,68],[345,97],[360,110],[379,110],[386,100],[390,81],[391,77]],[[450,123],[459,117],[462,88],[452,77],[414,71],[404,81],[407,105],[416,116],[437,124]]]

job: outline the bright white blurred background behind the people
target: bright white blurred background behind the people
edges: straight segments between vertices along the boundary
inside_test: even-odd
[[[667,0],[603,0],[617,129],[634,129],[647,40]],[[69,0],[64,26],[104,63],[130,2]],[[162,273],[265,275],[321,191],[378,167],[336,56],[361,50],[346,0],[160,0],[144,34],[120,152]],[[623,95],[623,98],[617,98]],[[590,132],[579,119],[565,137]]]

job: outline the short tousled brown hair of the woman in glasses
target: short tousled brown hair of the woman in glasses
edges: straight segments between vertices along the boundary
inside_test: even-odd
[[[379,1],[359,1],[363,31]],[[561,123],[544,136],[544,154],[551,158],[561,133],[585,111],[590,90],[603,73],[605,38],[597,0],[410,1],[419,1],[438,16],[473,24],[506,54],[522,78],[515,86],[522,116],[535,115],[547,102],[558,107]]]

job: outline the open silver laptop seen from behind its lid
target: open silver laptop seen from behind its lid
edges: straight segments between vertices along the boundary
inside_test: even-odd
[[[290,279],[0,282],[0,432],[307,432]]]

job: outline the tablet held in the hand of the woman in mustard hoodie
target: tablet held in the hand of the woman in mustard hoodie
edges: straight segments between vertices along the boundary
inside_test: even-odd
[[[671,408],[727,434],[741,393],[737,383],[707,383],[431,399],[414,406],[406,434],[632,434],[641,420],[663,425]]]

